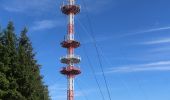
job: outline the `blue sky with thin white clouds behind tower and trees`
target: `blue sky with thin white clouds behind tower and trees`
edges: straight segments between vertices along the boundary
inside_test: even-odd
[[[67,17],[60,12],[64,0],[0,0],[0,24],[14,21],[16,32],[27,26],[41,74],[52,100],[66,100],[66,78],[59,70],[66,50],[60,42],[66,34]],[[109,100],[91,37],[97,41],[112,100],[170,100],[169,0],[77,0],[76,38],[82,46],[82,74],[76,77],[76,100]],[[87,17],[89,16],[89,18]],[[89,21],[90,20],[90,21]],[[84,53],[84,50],[86,53]]]

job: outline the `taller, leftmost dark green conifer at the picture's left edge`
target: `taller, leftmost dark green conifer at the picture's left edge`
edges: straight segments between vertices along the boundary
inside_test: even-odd
[[[16,83],[18,72],[18,57],[17,57],[17,38],[14,33],[14,26],[12,22],[9,22],[7,29],[4,31],[2,37],[1,46],[1,68],[2,75],[6,78],[5,88],[2,88],[2,99],[3,100],[24,100],[24,97],[17,91],[18,85]],[[4,83],[2,83],[4,84]],[[2,85],[3,86],[3,85]]]

